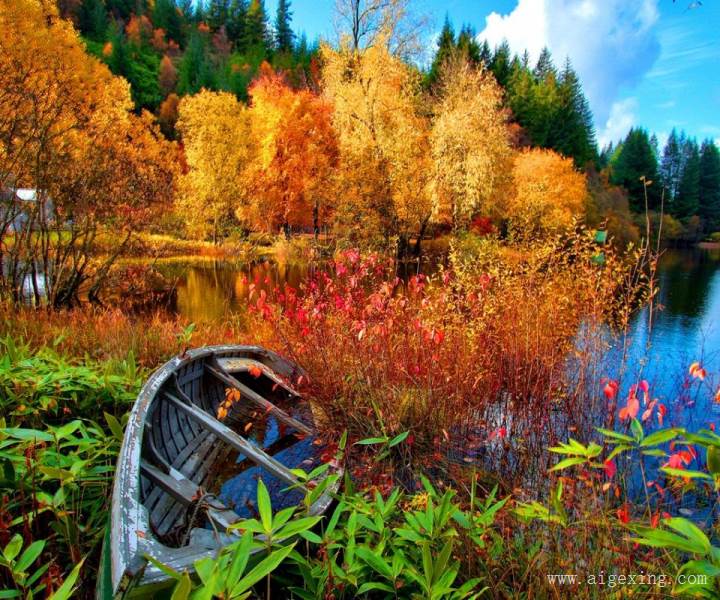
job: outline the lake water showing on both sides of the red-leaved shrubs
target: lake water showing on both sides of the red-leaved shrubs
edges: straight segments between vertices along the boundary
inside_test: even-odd
[[[297,287],[322,267],[171,260],[159,263],[158,268],[175,282],[171,310],[202,321],[242,310],[253,283],[259,289],[284,283]],[[672,409],[670,422],[693,427],[710,422],[720,425],[717,407],[708,401],[711,394],[707,393],[711,386],[720,384],[720,249],[666,250],[659,262],[658,280],[661,308],[654,314],[652,328],[647,309],[635,315],[627,340],[617,340],[608,364],[619,364],[617,358],[625,341],[623,380],[647,379],[653,397]],[[698,382],[683,387],[688,366],[694,361],[701,361],[710,375],[702,384],[706,386],[704,393]],[[608,370],[610,376],[620,375],[612,366]]]

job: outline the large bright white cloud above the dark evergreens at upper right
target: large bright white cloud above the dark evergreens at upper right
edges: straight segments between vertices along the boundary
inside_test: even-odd
[[[478,37],[491,46],[506,39],[533,61],[544,46],[558,66],[570,57],[601,128],[622,90],[636,85],[660,53],[657,2],[518,0],[509,14],[488,15]]]

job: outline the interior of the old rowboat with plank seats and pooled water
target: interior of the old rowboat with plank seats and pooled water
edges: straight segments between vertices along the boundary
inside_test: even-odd
[[[239,400],[218,419],[228,389]],[[143,432],[141,499],[155,535],[178,547],[210,539],[198,529],[224,532],[254,516],[258,479],[275,510],[297,505],[304,492],[291,469],[320,464],[311,425],[283,374],[251,357],[179,369],[158,390]]]

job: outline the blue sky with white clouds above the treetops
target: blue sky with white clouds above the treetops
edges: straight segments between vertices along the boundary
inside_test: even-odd
[[[334,38],[335,0],[293,0],[293,23],[310,39]],[[428,15],[428,49],[446,12],[456,30],[537,56],[569,55],[583,80],[601,144],[633,125],[673,127],[720,143],[720,0],[413,0]],[[266,0],[274,16],[276,0]]]

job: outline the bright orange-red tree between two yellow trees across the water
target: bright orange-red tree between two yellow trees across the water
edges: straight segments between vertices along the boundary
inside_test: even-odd
[[[257,142],[252,220],[262,229],[312,226],[317,234],[332,210],[329,182],[337,162],[330,103],[308,90],[292,90],[264,64],[249,90]]]

